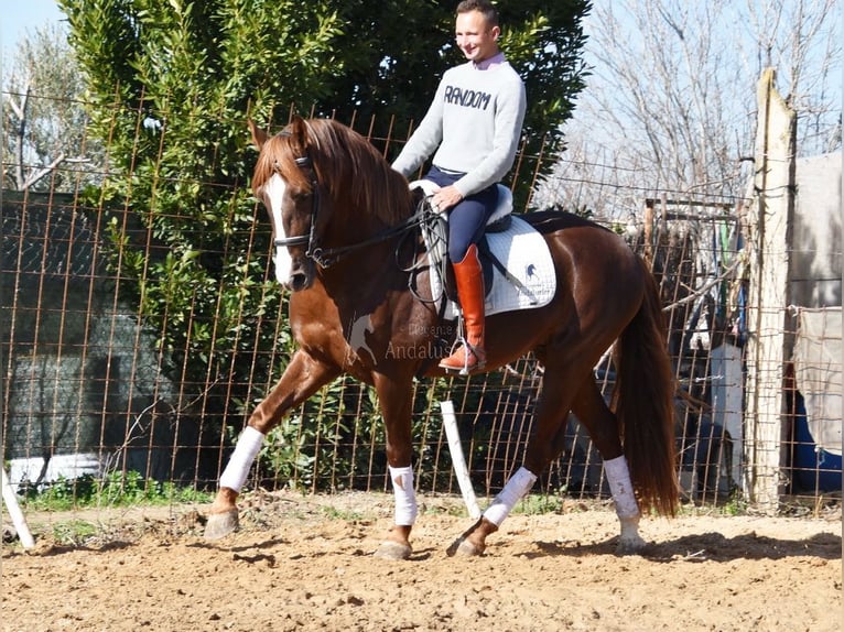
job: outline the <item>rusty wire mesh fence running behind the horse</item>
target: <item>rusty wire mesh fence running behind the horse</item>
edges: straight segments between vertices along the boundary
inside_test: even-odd
[[[371,140],[387,148],[404,139]],[[520,155],[513,182],[528,178],[535,190],[540,162],[550,160],[562,159]],[[173,165],[156,168],[177,171]],[[82,186],[69,186],[68,179],[61,178],[64,192],[42,183],[40,192],[2,195],[1,405],[3,459],[12,483],[24,494],[58,486],[72,499],[129,480],[141,490],[213,490],[234,438],[293,350],[285,296],[268,272],[270,228],[263,209],[255,200],[238,201],[249,195],[246,174],[242,186],[215,188],[231,200],[231,214],[239,219],[226,225],[223,240],[208,239],[202,226],[183,236],[195,244],[191,257],[218,272],[192,283],[178,276],[184,261],[165,247],[154,222],[144,220],[145,209],[136,208],[131,198],[113,206]],[[625,235],[660,283],[678,381],[682,493],[701,503],[740,499],[751,476],[746,455],[754,442],[744,432],[743,350],[751,334],[742,269],[745,200],[678,201],[660,199],[658,193],[628,209],[624,222],[618,215],[594,219]],[[528,198],[517,213],[533,210],[532,201]],[[209,243],[223,246],[214,250]],[[220,272],[224,265],[227,274]],[[136,274],[127,274],[130,268]],[[169,270],[173,283],[159,283],[159,294],[151,297],[148,274],[153,268],[156,274]],[[240,298],[228,304],[223,290],[232,284]],[[167,301],[176,295],[187,309],[169,310]],[[161,307],[154,317],[150,299]],[[840,318],[838,310],[837,325],[834,316],[812,326],[793,319],[792,334],[816,347],[814,356],[804,353],[810,359],[801,367],[827,363],[811,378],[803,368],[792,372],[802,371],[801,383],[821,384],[811,392],[801,392],[797,379],[783,384],[788,411],[781,476],[790,494],[818,499],[841,489],[840,450],[836,455],[832,443],[819,443],[812,425],[816,415],[807,413],[807,399],[815,403],[832,388],[830,374],[837,371],[840,384],[840,355],[824,360],[825,341],[837,338],[840,345]],[[609,397],[609,360],[595,372]],[[451,401],[475,490],[496,493],[520,465],[541,378],[541,363],[528,356],[488,375],[416,382],[413,437],[420,490],[458,493],[440,412],[440,403]],[[336,380],[268,436],[248,484],[313,492],[386,490],[379,415],[371,389],[350,378]],[[564,444],[540,478],[542,491],[608,495],[600,457],[574,417]]]

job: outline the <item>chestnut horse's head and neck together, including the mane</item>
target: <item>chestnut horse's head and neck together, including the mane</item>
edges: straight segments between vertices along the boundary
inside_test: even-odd
[[[410,216],[408,181],[350,128],[300,117],[274,137],[249,127],[260,150],[252,189],[270,211],[275,277],[285,287],[311,287],[317,265],[387,242]]]

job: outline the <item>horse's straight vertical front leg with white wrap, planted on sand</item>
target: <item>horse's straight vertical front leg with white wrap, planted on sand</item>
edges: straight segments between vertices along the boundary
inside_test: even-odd
[[[388,470],[396,501],[393,526],[376,551],[376,557],[407,559],[413,551],[410,532],[419,511],[411,466],[412,381],[379,373],[375,386],[385,419]]]

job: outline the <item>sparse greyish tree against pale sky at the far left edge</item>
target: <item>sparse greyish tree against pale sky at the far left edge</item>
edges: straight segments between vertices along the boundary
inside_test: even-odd
[[[79,181],[96,182],[83,90],[62,26],[41,26],[21,41],[3,84],[3,187],[72,192]]]

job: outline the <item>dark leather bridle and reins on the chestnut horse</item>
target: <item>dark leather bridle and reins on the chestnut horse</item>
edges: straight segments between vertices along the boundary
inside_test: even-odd
[[[283,132],[282,132],[283,133]],[[401,236],[412,228],[420,226],[425,221],[425,211],[422,208],[416,209],[412,216],[397,226],[392,226],[378,235],[349,246],[340,246],[337,248],[323,248],[320,246],[320,236],[316,235],[316,219],[320,214],[320,183],[316,179],[316,172],[314,171],[313,161],[311,156],[300,156],[294,160],[296,166],[300,168],[311,170],[311,228],[307,235],[299,235],[296,237],[285,237],[284,239],[274,239],[273,246],[275,248],[288,248],[291,246],[305,246],[305,257],[313,260],[320,268],[329,268],[337,263],[343,257],[366,248],[374,246],[393,237]],[[278,162],[275,163],[275,173],[279,172]]]

